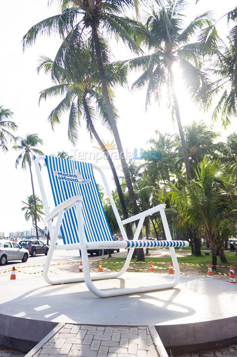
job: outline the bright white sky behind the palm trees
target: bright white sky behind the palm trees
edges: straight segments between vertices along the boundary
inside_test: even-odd
[[[19,127],[17,135],[24,137],[27,133],[38,133],[44,140],[43,146],[39,147],[44,153],[56,154],[64,150],[76,157],[78,153],[84,155],[94,153],[91,162],[104,168],[106,178],[113,189],[111,171],[106,161],[101,158],[98,149],[94,147],[97,143],[91,141],[85,123],[82,122],[78,143],[73,147],[67,139],[66,115],[54,131],[47,122],[50,111],[58,104],[59,99],[49,99],[39,106],[40,91],[51,85],[49,76],[43,72],[37,74],[39,57],[44,55],[53,59],[60,45],[60,39],[53,36],[41,37],[35,46],[27,48],[23,53],[22,37],[32,25],[59,13],[56,1],[50,7],[47,3],[48,0],[8,0],[0,4],[0,105],[14,113],[13,120]],[[235,6],[236,0],[200,0],[198,5],[195,5],[194,0],[190,0],[186,11],[187,21],[207,10],[213,11],[214,18],[219,19]],[[228,28],[225,19],[218,21],[218,31],[221,36],[226,36]],[[115,60],[130,58],[131,53],[122,44],[111,41],[111,47]],[[211,121],[210,112],[200,112],[186,95],[179,72],[176,71],[175,75],[183,125],[190,123],[190,119],[204,120],[207,124],[213,124],[213,130],[220,132],[223,140],[231,132],[237,131],[236,119],[233,119],[232,124],[224,131],[220,122]],[[131,74],[129,84],[136,77],[137,74]],[[118,129],[128,157],[131,157],[135,148],[138,151],[147,148],[147,141],[155,137],[155,130],[177,132],[176,123],[172,121],[165,104],[158,107],[157,104],[152,103],[145,111],[145,91],[131,92],[129,88],[118,87],[115,90],[115,98],[119,111]],[[113,137],[102,127],[99,120],[96,122],[96,130],[103,140],[112,142]],[[19,153],[14,150],[9,150],[8,153],[0,151],[0,232],[5,232],[5,235],[31,228],[31,224],[25,221],[21,211],[21,201],[25,201],[32,193],[30,173],[29,170],[15,168],[17,155]],[[87,158],[88,156],[86,161],[90,161]],[[119,164],[115,159],[115,165],[120,172]],[[35,172],[33,175],[36,194],[40,196]],[[44,222],[41,226],[44,226]]]

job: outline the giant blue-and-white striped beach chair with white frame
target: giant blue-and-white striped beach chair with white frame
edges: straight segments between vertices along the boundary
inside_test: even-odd
[[[46,191],[40,170],[40,160],[45,160],[50,181],[55,208],[49,211]],[[126,294],[173,288],[180,279],[180,270],[174,247],[187,246],[182,240],[172,240],[165,216],[165,204],[160,204],[131,218],[121,221],[111,191],[102,170],[90,163],[65,160],[53,156],[41,155],[35,159],[35,166],[43,203],[46,212],[46,222],[51,238],[46,257],[43,277],[49,284],[65,284],[85,281],[88,289],[97,297],[112,297]],[[123,240],[115,241],[109,228],[105,212],[100,200],[94,177],[94,170],[101,175],[113,212],[118,222]],[[146,216],[159,212],[161,215],[167,240],[138,240]],[[53,221],[53,222],[52,222]],[[128,240],[124,225],[139,221],[133,240]],[[56,245],[57,237],[61,234],[63,243]],[[135,248],[169,247],[175,268],[173,281],[158,283],[159,275],[152,275],[155,285],[138,288],[123,288],[99,290],[93,284],[95,280],[112,279],[126,272]],[[87,249],[129,248],[129,253],[123,268],[119,272],[106,274],[91,274]],[[56,249],[80,249],[83,262],[83,276],[68,276],[67,278],[51,278],[48,269],[53,251]]]

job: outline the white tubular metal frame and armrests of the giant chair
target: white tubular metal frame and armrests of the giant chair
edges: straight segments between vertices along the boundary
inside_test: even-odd
[[[84,282],[85,281],[88,289],[91,290],[91,292],[95,296],[97,296],[97,297],[113,297],[113,296],[120,296],[120,295],[127,295],[127,294],[143,293],[143,292],[147,292],[147,291],[170,289],[170,288],[173,288],[179,282],[180,269],[179,269],[178,260],[177,260],[176,254],[175,254],[175,248],[169,247],[170,255],[171,255],[173,266],[175,269],[175,275],[174,275],[173,281],[168,282],[168,283],[162,283],[162,284],[160,283],[160,284],[156,284],[156,285],[152,285],[152,286],[148,286],[148,287],[123,288],[123,289],[113,289],[113,290],[106,290],[106,291],[97,289],[95,287],[95,285],[93,284],[94,280],[114,279],[114,278],[121,276],[123,273],[126,272],[128,266],[130,264],[130,261],[132,259],[132,255],[133,255],[135,247],[130,248],[127,258],[126,258],[126,261],[125,261],[125,264],[119,272],[108,273],[108,274],[91,274],[87,249],[122,248],[122,247],[126,247],[127,243],[126,243],[126,241],[87,242],[85,232],[84,232],[84,225],[83,225],[83,214],[82,214],[82,200],[83,200],[83,198],[82,198],[82,196],[73,196],[73,197],[65,200],[64,202],[62,202],[61,204],[56,206],[51,212],[49,212],[47,196],[46,196],[46,192],[44,189],[44,185],[43,185],[43,181],[42,181],[42,177],[41,177],[41,171],[40,171],[40,164],[39,164],[40,160],[45,160],[45,159],[46,159],[45,155],[38,156],[35,159],[35,168],[36,168],[37,178],[39,181],[39,186],[40,186],[43,203],[44,203],[44,208],[45,208],[45,212],[46,212],[46,222],[48,225],[48,230],[49,230],[49,234],[50,234],[50,238],[51,238],[51,242],[50,242],[50,246],[49,246],[49,250],[48,250],[48,254],[46,257],[46,262],[45,262],[45,266],[44,266],[44,270],[43,270],[43,277],[48,284],[55,285],[55,284],[76,283],[76,282]],[[139,220],[139,223],[138,223],[135,235],[134,235],[134,239],[133,239],[133,240],[138,240],[140,232],[142,230],[142,225],[143,225],[145,217],[147,217],[153,213],[156,213],[156,212],[160,212],[161,220],[163,223],[163,227],[164,227],[164,231],[165,231],[167,240],[169,240],[169,241],[172,240],[168,222],[167,222],[166,215],[165,215],[165,211],[164,211],[165,204],[160,204],[160,205],[150,208],[142,213],[139,213],[131,218],[121,221],[117,207],[115,205],[112,194],[110,192],[108,183],[105,179],[104,173],[96,165],[93,164],[92,166],[95,170],[97,170],[99,172],[99,174],[103,180],[106,192],[108,194],[111,206],[113,208],[114,215],[117,219],[118,226],[119,226],[120,232],[121,232],[124,240],[128,240],[128,238],[127,238],[127,235],[126,235],[123,225]],[[74,205],[76,206],[76,215],[77,215],[77,220],[78,220],[80,243],[56,245],[56,240],[57,240],[57,237],[59,234],[64,211],[70,209]],[[57,217],[56,225],[53,228],[52,220],[56,217]],[[81,256],[82,256],[83,275],[84,276],[80,276],[80,277],[74,276],[74,277],[68,277],[68,278],[64,278],[64,279],[50,278],[48,276],[48,269],[49,269],[49,265],[50,265],[50,261],[51,261],[54,249],[56,249],[56,250],[57,249],[80,249]],[[157,279],[158,276],[154,275],[153,278]]]

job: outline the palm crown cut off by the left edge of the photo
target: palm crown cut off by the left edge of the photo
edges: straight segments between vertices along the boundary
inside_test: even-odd
[[[9,119],[12,118],[13,113],[9,109],[4,109],[0,106],[0,147],[2,151],[8,151],[7,139],[16,140],[15,136],[11,134],[8,129],[15,131],[17,125],[14,121]]]

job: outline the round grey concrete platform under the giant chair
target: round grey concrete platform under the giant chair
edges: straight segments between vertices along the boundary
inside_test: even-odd
[[[126,273],[95,286],[149,286],[169,279],[163,274]],[[51,323],[156,325],[165,346],[237,336],[237,285],[206,277],[182,277],[170,290],[105,299],[95,297],[84,283],[49,286],[41,277],[2,282],[1,291],[0,314]]]

